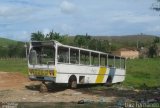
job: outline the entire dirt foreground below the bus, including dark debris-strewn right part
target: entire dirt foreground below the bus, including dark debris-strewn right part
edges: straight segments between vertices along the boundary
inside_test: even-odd
[[[106,102],[122,99],[131,102],[159,102],[160,88],[137,90],[123,86],[79,86],[68,89],[64,85],[48,83],[48,92],[39,92],[41,82],[30,81],[20,73],[0,72],[0,102]],[[145,88],[145,87],[144,87]],[[121,102],[122,103],[122,102]]]

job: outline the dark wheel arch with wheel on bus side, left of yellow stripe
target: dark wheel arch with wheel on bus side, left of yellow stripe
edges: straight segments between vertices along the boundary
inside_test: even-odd
[[[75,75],[69,77],[68,86],[72,89],[77,88],[77,77]]]

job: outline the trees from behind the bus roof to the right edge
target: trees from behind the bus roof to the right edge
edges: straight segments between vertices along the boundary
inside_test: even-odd
[[[96,39],[88,34],[85,35],[76,35],[75,37],[69,37],[68,35],[60,35],[60,33],[49,32],[48,34],[44,35],[42,32],[38,31],[36,33],[31,34],[31,40],[32,41],[47,41],[47,40],[57,40],[61,42],[62,44],[67,44],[67,45],[72,45],[80,48],[87,48],[87,49],[92,49],[92,50],[97,50],[97,51],[102,51],[102,52],[107,52],[111,53],[112,51],[118,50],[119,47],[116,45],[117,43],[111,43],[110,41],[106,39]],[[122,44],[122,43],[121,43]],[[123,43],[126,48],[130,47],[135,49],[136,48],[136,43],[129,45],[128,43]],[[148,46],[145,46],[144,43],[139,42],[139,47],[137,50],[141,51],[142,47],[147,48],[147,52],[145,52],[145,55],[147,57],[158,57],[160,54],[160,38],[155,37],[153,39],[152,43],[149,43]]]

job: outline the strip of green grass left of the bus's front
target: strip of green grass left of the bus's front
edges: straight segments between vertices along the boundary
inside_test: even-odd
[[[0,71],[20,72],[27,75],[27,61],[25,59],[0,60]]]

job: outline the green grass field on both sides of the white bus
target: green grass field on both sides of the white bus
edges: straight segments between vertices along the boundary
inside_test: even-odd
[[[139,88],[160,86],[160,58],[127,60],[125,86]],[[0,71],[20,72],[27,75],[27,61],[24,59],[0,60]]]

